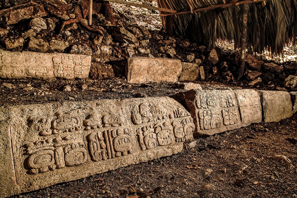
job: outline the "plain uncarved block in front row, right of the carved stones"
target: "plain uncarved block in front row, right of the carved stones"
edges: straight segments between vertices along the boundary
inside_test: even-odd
[[[263,121],[272,122],[293,115],[292,102],[286,91],[258,91],[263,109]]]

